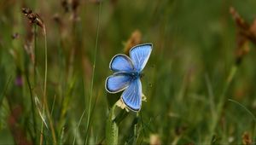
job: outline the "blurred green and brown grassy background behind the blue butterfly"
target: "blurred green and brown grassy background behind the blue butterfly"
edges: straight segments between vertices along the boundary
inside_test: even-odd
[[[120,144],[241,144],[245,136],[255,143],[253,44],[226,84],[237,43],[230,6],[253,23],[255,0],[103,0],[102,6],[96,0],[1,0],[0,144],[39,144],[42,131],[44,34],[22,14],[24,7],[46,28],[44,143],[54,142],[51,122],[58,144],[105,144],[109,104],[119,98],[105,90],[108,64],[125,53],[134,32],[134,41],[154,49],[143,70],[147,102],[119,124]]]

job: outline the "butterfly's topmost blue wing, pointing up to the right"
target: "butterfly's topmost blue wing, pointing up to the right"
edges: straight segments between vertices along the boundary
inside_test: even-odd
[[[141,72],[148,62],[152,51],[152,44],[141,44],[130,50],[131,61],[137,72]]]

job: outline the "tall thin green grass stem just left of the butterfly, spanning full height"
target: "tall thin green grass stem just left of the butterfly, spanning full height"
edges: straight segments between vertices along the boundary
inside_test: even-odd
[[[92,77],[91,77],[91,84],[90,84],[90,99],[89,99],[89,108],[88,108],[88,119],[87,119],[87,125],[86,125],[86,134],[85,134],[85,140],[84,144],[87,144],[88,142],[88,134],[89,134],[89,124],[90,124],[90,110],[91,110],[91,99],[92,99],[92,93],[93,93],[93,84],[94,84],[94,77],[95,77],[95,67],[96,67],[96,54],[97,54],[97,48],[98,48],[98,38],[99,38],[99,31],[100,31],[100,15],[102,12],[102,2],[99,4],[98,8],[98,19],[97,19],[97,32],[96,32],[96,45],[95,45],[95,52],[94,52],[94,61],[93,61],[93,67],[92,67]]]

